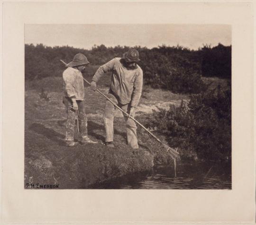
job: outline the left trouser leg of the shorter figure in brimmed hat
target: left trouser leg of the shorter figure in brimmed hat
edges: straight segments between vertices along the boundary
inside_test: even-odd
[[[71,108],[72,103],[68,99],[64,99],[64,104],[67,112],[65,140],[73,141],[76,114],[75,111]]]

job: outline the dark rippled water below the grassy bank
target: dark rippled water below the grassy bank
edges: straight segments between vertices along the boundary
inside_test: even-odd
[[[231,166],[222,164],[176,163],[154,167],[151,171],[133,173],[91,189],[231,189]]]

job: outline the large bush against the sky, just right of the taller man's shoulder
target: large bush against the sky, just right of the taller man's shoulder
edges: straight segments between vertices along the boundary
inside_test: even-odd
[[[188,50],[179,47],[158,47],[141,53],[140,65],[144,81],[152,87],[161,87],[174,93],[199,93],[205,89],[201,80],[199,61],[191,59]],[[196,56],[197,57],[197,56]]]

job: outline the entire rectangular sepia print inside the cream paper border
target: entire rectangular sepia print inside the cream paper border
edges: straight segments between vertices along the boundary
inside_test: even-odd
[[[231,26],[25,24],[24,189],[232,189]]]

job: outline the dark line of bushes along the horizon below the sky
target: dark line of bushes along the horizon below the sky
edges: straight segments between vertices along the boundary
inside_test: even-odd
[[[61,76],[60,59],[69,62],[81,52],[91,65],[102,65],[114,57],[122,57],[128,46],[106,47],[101,44],[91,50],[70,46],[48,47],[43,44],[25,44],[25,79]],[[138,63],[144,71],[144,83],[176,93],[199,93],[203,90],[201,77],[231,78],[231,46],[210,47],[198,50],[166,45],[152,49],[135,46],[140,53]]]

